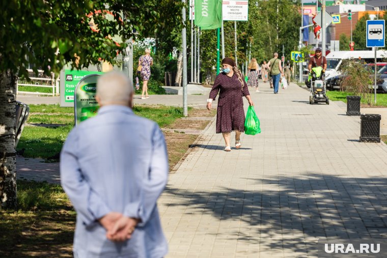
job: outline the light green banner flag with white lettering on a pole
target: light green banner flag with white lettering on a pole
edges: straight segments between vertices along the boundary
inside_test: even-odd
[[[195,25],[202,30],[222,26],[222,0],[195,0]]]

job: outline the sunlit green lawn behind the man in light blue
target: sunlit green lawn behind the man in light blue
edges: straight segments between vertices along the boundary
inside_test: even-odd
[[[188,108],[191,109],[191,108]],[[135,114],[155,121],[160,127],[167,127],[176,119],[183,117],[181,107],[171,106],[135,106]],[[68,133],[74,126],[74,109],[59,105],[31,105],[27,123],[63,124],[60,127],[25,126],[21,134],[17,151],[26,158],[43,158],[58,161]]]

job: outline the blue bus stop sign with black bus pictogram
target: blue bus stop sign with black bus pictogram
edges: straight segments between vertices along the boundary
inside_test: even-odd
[[[367,47],[384,47],[384,20],[367,20]]]

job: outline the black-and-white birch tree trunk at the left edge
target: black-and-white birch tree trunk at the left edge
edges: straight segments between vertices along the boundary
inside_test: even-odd
[[[0,209],[16,208],[16,79],[0,71]]]

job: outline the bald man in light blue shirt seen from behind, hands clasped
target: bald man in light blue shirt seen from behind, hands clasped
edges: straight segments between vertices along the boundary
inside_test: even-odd
[[[61,152],[61,183],[77,213],[74,257],[163,257],[156,202],[168,179],[164,136],[133,113],[123,73],[99,77],[96,99],[97,116],[78,124]]]

